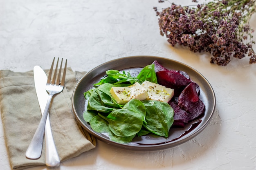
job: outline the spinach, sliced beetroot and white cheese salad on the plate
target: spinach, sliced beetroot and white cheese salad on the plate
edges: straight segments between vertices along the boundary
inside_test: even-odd
[[[204,114],[199,89],[185,72],[168,70],[157,61],[137,75],[108,70],[84,93],[88,104],[83,118],[94,131],[119,143],[149,133],[168,137],[171,127],[184,127]]]

